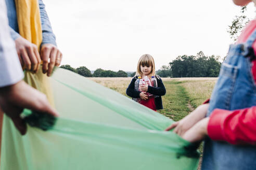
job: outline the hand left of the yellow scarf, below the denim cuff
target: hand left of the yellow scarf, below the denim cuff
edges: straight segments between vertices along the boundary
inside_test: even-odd
[[[36,73],[41,64],[37,46],[23,37],[17,38],[15,45],[22,68]]]

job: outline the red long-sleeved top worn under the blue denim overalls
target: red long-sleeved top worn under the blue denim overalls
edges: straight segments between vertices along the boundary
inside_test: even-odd
[[[237,44],[245,43],[255,29],[256,20],[252,20],[242,31]],[[256,55],[255,42],[253,49]],[[256,82],[256,60],[252,61],[252,75]],[[253,107],[240,110],[214,109],[207,129],[212,140],[225,140],[231,144],[256,144],[256,103]]]

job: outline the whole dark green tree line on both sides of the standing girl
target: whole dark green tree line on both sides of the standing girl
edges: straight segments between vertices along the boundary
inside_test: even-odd
[[[163,65],[156,74],[160,77],[217,77],[220,72],[220,56],[206,56],[202,51],[194,55],[178,56],[169,65]],[[124,72],[119,70],[96,69],[93,73],[85,66],[73,68],[70,65],[61,65],[61,68],[68,69],[84,77],[133,77],[136,72]]]

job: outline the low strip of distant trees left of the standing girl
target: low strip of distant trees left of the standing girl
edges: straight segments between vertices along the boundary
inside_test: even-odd
[[[123,70],[114,72],[112,70],[96,69],[93,73],[85,66],[73,68],[70,65],[61,65],[60,68],[68,69],[71,72],[78,73],[84,77],[128,77],[128,74]]]

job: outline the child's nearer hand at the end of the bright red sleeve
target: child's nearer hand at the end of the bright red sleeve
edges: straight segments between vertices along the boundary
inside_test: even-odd
[[[208,117],[200,120],[186,133],[184,133],[184,135],[182,135],[182,138],[187,141],[190,141],[191,143],[203,140],[208,135],[207,126],[209,123],[209,119],[210,118]]]

